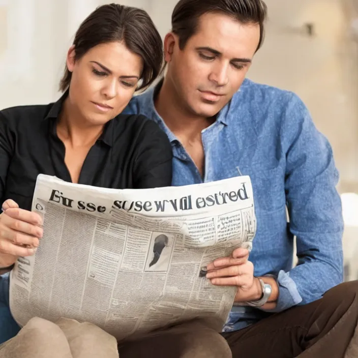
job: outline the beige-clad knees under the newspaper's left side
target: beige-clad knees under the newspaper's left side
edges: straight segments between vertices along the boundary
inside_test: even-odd
[[[0,358],[118,358],[114,337],[91,323],[31,319],[0,346]]]

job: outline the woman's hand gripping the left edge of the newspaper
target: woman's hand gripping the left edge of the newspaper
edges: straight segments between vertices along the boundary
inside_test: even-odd
[[[19,208],[14,200],[2,205],[0,214],[0,268],[15,263],[19,256],[32,256],[43,235],[39,214]]]

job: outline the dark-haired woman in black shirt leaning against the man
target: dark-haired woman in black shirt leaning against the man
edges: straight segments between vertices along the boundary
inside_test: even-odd
[[[171,184],[167,136],[141,115],[120,114],[135,91],[156,79],[162,64],[162,41],[150,17],[139,9],[104,5],[76,33],[62,98],[0,111],[1,273],[41,245],[41,217],[31,212],[38,174],[116,189]],[[8,285],[2,277],[6,301]],[[4,342],[18,327],[6,312],[0,319]]]

